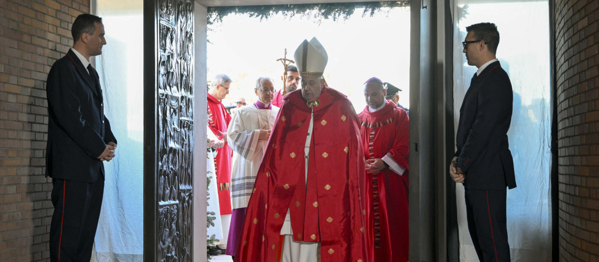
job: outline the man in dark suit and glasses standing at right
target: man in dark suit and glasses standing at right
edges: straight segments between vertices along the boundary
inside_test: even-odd
[[[507,190],[516,187],[507,130],[512,120],[510,77],[495,54],[499,32],[494,23],[466,28],[462,42],[468,65],[478,70],[459,109],[453,180],[464,185],[468,230],[480,261],[510,261],[507,242]]]

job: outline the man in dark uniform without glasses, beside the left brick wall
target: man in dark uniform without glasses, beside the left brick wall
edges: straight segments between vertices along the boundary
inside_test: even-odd
[[[50,261],[89,261],[104,194],[104,161],[116,138],[104,116],[98,73],[90,56],[102,54],[102,19],[81,14],[73,22],[73,47],[48,74],[46,176],[52,177],[54,214]]]

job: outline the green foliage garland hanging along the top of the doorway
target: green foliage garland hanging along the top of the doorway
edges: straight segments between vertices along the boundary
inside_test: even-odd
[[[382,11],[382,8],[409,7],[410,1],[382,1],[382,2],[351,2],[329,4],[287,4],[287,5],[250,5],[237,7],[208,7],[208,25],[222,22],[228,14],[247,14],[249,17],[268,19],[275,14],[282,13],[288,19],[299,14],[301,17],[315,19],[346,20],[352,16],[356,8],[364,8],[362,17],[367,14],[373,16]]]

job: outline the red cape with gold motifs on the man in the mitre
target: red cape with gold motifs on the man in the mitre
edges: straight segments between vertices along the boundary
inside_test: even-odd
[[[276,261],[288,209],[294,240],[320,242],[322,262],[368,261],[361,203],[364,153],[351,102],[325,87],[311,109],[301,92],[283,98],[247,208],[235,261]]]

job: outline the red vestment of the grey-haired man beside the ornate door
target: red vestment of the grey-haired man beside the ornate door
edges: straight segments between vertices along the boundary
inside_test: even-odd
[[[214,98],[208,96],[208,126],[219,139],[223,139],[223,133],[231,121],[231,115],[226,112],[225,106]],[[231,214],[231,147],[225,143],[224,147],[217,148],[214,158],[216,167],[216,183],[219,190],[220,214]]]

